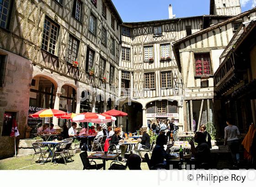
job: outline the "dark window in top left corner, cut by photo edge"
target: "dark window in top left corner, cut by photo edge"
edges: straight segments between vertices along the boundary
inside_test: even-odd
[[[7,29],[11,0],[0,0],[0,27]]]

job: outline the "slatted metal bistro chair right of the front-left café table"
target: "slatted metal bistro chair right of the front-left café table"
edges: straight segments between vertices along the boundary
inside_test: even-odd
[[[69,153],[69,149],[71,147],[71,144],[72,144],[72,142],[68,142],[68,143],[63,142],[63,143],[60,143],[59,145],[57,145],[56,146],[56,151],[54,151],[54,153],[53,153],[52,161],[53,161],[54,157],[56,158],[56,156],[58,154],[59,154],[59,159],[60,159],[60,157],[63,158],[65,165],[67,165],[66,161],[68,161],[68,155],[69,155],[70,160],[73,161],[71,159],[71,155]]]

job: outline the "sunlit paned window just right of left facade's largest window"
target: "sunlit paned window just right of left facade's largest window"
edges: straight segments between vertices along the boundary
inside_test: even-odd
[[[75,39],[74,36],[69,36],[69,47],[68,47],[68,58],[67,62],[73,63],[76,61],[78,56],[79,40]]]

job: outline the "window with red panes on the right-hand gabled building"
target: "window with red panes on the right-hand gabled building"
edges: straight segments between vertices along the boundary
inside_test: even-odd
[[[209,53],[195,54],[196,76],[211,75],[211,62]]]

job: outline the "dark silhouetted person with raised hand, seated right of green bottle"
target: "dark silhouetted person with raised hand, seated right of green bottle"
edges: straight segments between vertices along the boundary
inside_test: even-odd
[[[198,144],[195,147],[194,141]],[[211,151],[202,132],[196,132],[194,141],[190,140],[191,152],[196,159],[197,165],[202,163],[211,163]]]

